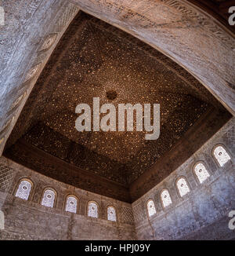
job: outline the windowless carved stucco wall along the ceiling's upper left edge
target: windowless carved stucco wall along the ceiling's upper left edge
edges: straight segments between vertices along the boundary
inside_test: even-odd
[[[0,155],[27,97],[64,31],[78,13],[61,0],[3,1],[0,48]]]

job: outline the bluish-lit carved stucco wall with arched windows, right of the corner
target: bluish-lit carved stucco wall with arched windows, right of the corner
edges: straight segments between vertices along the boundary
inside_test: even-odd
[[[204,144],[190,159],[132,203],[137,237],[141,240],[234,240],[235,232],[228,227],[229,212],[235,209],[235,127],[234,118]],[[222,144],[231,160],[220,167],[211,151]],[[200,184],[193,174],[195,163],[202,161],[209,174]],[[190,192],[180,197],[175,187],[178,177],[186,177]],[[161,205],[160,193],[168,188],[172,204]],[[146,202],[154,199],[157,213],[148,218]]]

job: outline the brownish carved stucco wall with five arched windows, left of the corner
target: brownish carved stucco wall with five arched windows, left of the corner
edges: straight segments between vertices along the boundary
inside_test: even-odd
[[[22,178],[33,182],[26,201],[15,197]],[[41,205],[45,188],[56,191],[53,208]],[[78,198],[78,212],[64,210],[68,195]],[[99,204],[99,218],[87,217],[89,201]],[[107,207],[115,207],[117,221],[107,221]],[[132,206],[129,203],[86,192],[55,181],[2,157],[0,159],[0,209],[5,230],[0,240],[135,240]]]

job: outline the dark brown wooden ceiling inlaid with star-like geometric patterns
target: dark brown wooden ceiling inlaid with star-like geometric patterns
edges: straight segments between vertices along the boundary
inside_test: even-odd
[[[80,103],[92,106],[93,97],[116,107],[160,104],[160,137],[146,141],[145,132],[78,132],[75,108]],[[5,155],[70,185],[130,202],[129,186],[157,161],[168,165],[168,154],[177,152],[186,134],[190,140],[201,119],[208,122],[208,130],[193,137],[195,147],[181,155],[181,162],[229,118],[219,101],[178,64],[80,12],[34,86]],[[167,171],[158,170],[157,181],[180,161],[173,161],[175,166],[168,165]]]

